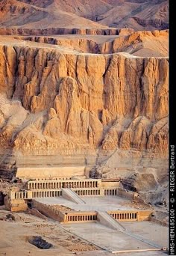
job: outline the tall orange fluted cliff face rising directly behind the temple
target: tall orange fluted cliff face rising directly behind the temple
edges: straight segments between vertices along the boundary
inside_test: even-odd
[[[0,57],[1,148],[167,153],[167,58],[25,46],[0,46]]]

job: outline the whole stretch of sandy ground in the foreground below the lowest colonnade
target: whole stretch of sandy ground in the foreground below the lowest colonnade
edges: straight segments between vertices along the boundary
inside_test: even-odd
[[[113,231],[99,223],[60,225],[51,219],[40,219],[26,213],[13,213],[15,221],[10,221],[7,210],[0,210],[0,255],[19,256],[54,256],[54,255],[113,255],[110,251],[123,249],[151,249],[146,243]],[[151,222],[123,222],[125,228],[149,239],[161,246],[167,246],[168,228]],[[28,237],[41,236],[54,247],[41,250],[28,243]],[[97,245],[97,246],[95,246]],[[107,249],[105,251],[104,249]],[[109,251],[109,252],[108,252]],[[129,254],[118,254],[129,255]],[[131,253],[131,256],[157,256],[163,252]]]

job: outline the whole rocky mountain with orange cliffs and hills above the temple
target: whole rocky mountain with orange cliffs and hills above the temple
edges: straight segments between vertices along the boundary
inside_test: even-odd
[[[168,1],[1,1],[1,173],[84,165],[165,200],[167,27]]]

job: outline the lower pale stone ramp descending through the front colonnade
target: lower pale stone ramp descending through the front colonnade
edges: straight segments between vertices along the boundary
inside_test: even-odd
[[[116,231],[125,231],[125,227],[107,212],[98,212],[97,219],[102,225],[105,225],[108,228],[113,228]]]

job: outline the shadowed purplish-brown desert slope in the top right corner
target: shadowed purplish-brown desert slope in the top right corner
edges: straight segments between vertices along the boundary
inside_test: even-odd
[[[135,30],[169,28],[168,1],[126,1],[96,17],[102,25],[130,27]]]

